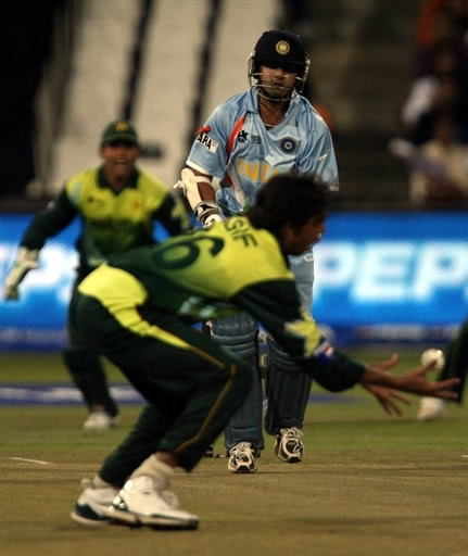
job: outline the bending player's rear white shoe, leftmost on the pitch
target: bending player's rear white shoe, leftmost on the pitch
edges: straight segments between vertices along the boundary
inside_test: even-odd
[[[72,519],[91,527],[109,523],[109,508],[118,494],[118,489],[97,488],[91,479],[84,479],[81,486],[84,491],[72,509]]]

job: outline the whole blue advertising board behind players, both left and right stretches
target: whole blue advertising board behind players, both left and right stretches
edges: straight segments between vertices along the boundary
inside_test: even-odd
[[[0,215],[2,282],[30,218]],[[47,242],[18,301],[1,301],[0,350],[66,343],[78,226]],[[326,226],[314,248],[313,315],[330,340],[445,341],[467,317],[468,214],[334,213]]]

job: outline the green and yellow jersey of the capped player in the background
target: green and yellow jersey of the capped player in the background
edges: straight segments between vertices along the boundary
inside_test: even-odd
[[[68,179],[51,205],[33,219],[21,244],[41,249],[76,216],[83,225],[76,248],[81,269],[88,270],[130,248],[154,243],[154,220],[170,235],[191,227],[182,203],[157,179],[135,168],[125,187],[115,192],[99,166]]]

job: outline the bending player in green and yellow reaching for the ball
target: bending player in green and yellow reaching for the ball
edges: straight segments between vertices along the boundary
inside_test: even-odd
[[[389,412],[399,391],[454,397],[456,382],[428,382],[431,366],[402,376],[334,350],[301,306],[288,255],[325,230],[328,193],[314,178],[279,175],[245,216],[109,261],[79,285],[71,326],[104,353],[149,402],[124,442],[85,483],[72,511],[80,523],[109,519],[175,529],[198,526],[167,492],[177,466],[193,469],[252,384],[249,365],[192,326],[244,311],[303,371],[341,391],[361,382]]]

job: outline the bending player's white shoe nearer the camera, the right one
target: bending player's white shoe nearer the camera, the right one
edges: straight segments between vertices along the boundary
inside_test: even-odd
[[[199,518],[178,509],[175,494],[163,490],[159,478],[142,475],[129,479],[114,498],[109,515],[129,526],[157,529],[197,529]]]

